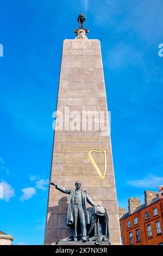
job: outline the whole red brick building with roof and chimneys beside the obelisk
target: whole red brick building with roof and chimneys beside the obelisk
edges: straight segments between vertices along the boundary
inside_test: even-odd
[[[144,204],[130,197],[128,212],[118,208],[123,245],[163,245],[163,186],[144,193]]]

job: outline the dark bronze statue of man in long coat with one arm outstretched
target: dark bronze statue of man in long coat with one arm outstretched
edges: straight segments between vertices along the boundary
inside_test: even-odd
[[[56,185],[51,182],[51,185],[55,186],[57,190],[70,194],[70,203],[68,205],[68,212],[67,212],[67,221],[66,225],[73,229],[73,240],[78,241],[78,234],[77,234],[77,223],[78,223],[78,216],[80,219],[80,227],[82,231],[82,240],[86,242],[86,225],[90,224],[89,214],[87,211],[88,202],[92,206],[97,206],[92,199],[86,193],[86,190],[82,190],[81,186],[82,183],[80,181],[76,181],[76,189],[70,190],[69,188],[64,188],[59,185]]]

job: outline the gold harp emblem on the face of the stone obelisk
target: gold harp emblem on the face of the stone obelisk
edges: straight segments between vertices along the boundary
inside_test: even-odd
[[[106,166],[107,166],[107,157],[106,149],[96,150],[92,149],[89,151],[89,159],[91,160],[93,166],[96,169],[96,172],[99,175],[99,178],[105,179],[106,176]]]

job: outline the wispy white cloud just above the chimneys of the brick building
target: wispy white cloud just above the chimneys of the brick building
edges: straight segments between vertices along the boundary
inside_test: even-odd
[[[127,184],[133,187],[149,188],[158,190],[158,187],[163,184],[163,176],[154,176],[149,174],[147,177],[140,180],[128,180]]]

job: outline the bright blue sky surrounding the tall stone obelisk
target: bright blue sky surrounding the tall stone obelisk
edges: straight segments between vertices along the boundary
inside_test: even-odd
[[[161,0],[1,0],[0,230],[44,239],[61,48],[80,11],[101,40],[118,205],[163,184]]]

